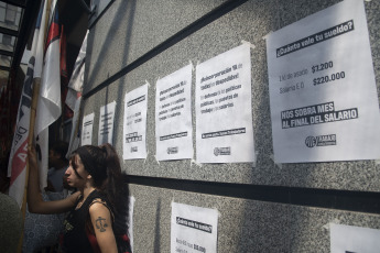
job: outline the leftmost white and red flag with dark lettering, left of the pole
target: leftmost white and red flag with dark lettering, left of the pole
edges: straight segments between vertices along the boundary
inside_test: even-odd
[[[8,176],[11,177],[9,196],[17,200],[20,208],[22,207],[26,175],[26,148],[33,90],[32,85],[33,79],[37,78],[39,75],[41,76],[42,55],[39,55],[37,47],[43,45],[44,22],[42,22],[42,20],[44,20],[45,14],[46,7],[44,1],[42,1],[34,30],[32,56],[28,64],[28,70],[19,103],[15,132],[8,166]]]

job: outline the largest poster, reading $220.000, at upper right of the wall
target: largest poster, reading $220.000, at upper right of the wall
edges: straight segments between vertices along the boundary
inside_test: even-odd
[[[363,1],[267,38],[275,163],[380,158],[379,101]]]

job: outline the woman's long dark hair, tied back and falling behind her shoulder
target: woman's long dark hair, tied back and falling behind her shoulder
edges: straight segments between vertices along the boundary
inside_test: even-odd
[[[100,146],[84,145],[73,154],[79,155],[85,169],[93,177],[94,186],[107,197],[115,215],[115,233],[124,234],[129,212],[129,187],[124,182],[127,175],[121,173],[116,150],[109,143]]]

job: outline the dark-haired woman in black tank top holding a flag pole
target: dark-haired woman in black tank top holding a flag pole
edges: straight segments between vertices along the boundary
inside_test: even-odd
[[[69,211],[62,234],[64,252],[131,252],[127,235],[129,190],[110,144],[85,145],[73,153],[65,176],[78,191],[57,201],[42,199],[34,147],[29,148],[29,211]]]

